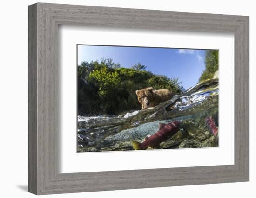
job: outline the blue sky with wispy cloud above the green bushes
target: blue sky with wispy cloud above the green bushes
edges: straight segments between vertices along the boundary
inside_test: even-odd
[[[204,54],[205,50],[197,49],[78,45],[77,62],[112,58],[122,67],[141,63],[154,74],[178,77],[182,86],[189,89],[204,70]]]

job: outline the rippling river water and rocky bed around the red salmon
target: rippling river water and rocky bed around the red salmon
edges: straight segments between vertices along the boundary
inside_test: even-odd
[[[218,147],[218,135],[211,134],[205,118],[218,126],[218,78],[196,84],[154,108],[113,116],[78,116],[77,151],[133,150],[131,141],[143,141],[159,130],[159,123],[181,121],[182,127],[159,149]],[[152,148],[148,148],[152,149]]]

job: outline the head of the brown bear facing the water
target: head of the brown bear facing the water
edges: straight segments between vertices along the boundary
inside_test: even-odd
[[[150,101],[153,99],[153,91],[152,87],[148,87],[146,89],[136,90],[136,95],[138,97],[138,101],[142,104],[142,109],[146,109],[149,107]]]

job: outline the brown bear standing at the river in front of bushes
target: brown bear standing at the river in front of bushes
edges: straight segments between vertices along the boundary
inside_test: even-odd
[[[136,90],[138,101],[142,104],[142,109],[155,107],[161,102],[170,100],[174,94],[168,89],[155,90],[152,87]]]

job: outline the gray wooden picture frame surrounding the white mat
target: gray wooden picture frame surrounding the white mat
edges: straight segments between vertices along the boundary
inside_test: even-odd
[[[235,164],[58,172],[58,25],[235,35]],[[91,192],[249,181],[249,17],[37,3],[28,6],[28,191]]]

